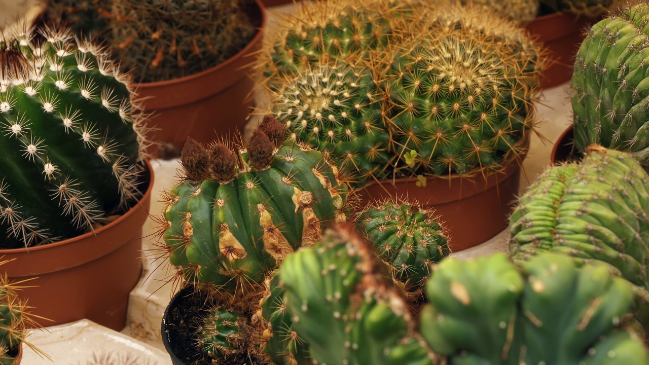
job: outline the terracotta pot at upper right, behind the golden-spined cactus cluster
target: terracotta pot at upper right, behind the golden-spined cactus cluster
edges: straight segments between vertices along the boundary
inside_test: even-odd
[[[525,29],[533,39],[545,45],[550,65],[541,76],[541,88],[551,88],[572,77],[574,56],[583,42],[583,31],[600,18],[576,16],[570,12],[555,12],[539,16]]]

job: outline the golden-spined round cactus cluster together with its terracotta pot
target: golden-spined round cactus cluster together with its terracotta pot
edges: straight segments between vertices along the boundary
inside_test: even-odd
[[[522,29],[494,27],[482,9],[417,6],[305,6],[258,64],[293,138],[354,170],[365,199],[434,207],[459,251],[507,225],[543,60]]]

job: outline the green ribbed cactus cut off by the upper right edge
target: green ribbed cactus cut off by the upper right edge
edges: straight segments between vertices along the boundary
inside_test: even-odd
[[[644,40],[649,5],[626,7],[593,25],[572,74],[574,143],[628,151],[649,164],[649,80]]]

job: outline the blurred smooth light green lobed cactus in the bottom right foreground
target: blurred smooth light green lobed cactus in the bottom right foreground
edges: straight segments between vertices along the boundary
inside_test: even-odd
[[[443,261],[426,286],[426,342],[449,364],[647,364],[626,321],[631,285],[600,264],[545,253]]]

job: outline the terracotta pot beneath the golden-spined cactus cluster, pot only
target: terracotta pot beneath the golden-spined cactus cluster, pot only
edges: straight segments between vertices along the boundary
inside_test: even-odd
[[[429,177],[425,187],[417,179],[369,183],[361,190],[364,203],[403,197],[434,208],[448,228],[452,251],[461,251],[493,238],[508,225],[519,193],[520,165],[525,156],[501,173],[473,177]]]

